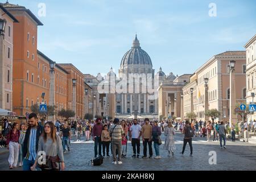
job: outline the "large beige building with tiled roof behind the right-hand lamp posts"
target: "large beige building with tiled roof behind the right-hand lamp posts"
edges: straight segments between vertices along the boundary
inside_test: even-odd
[[[217,109],[221,115],[217,121],[229,121],[229,115],[232,113],[232,118],[237,118],[234,113],[236,104],[245,102],[246,84],[245,84],[245,51],[227,51],[213,56],[210,60],[202,65],[195,72],[195,78],[191,83],[184,86],[184,115],[189,109],[191,103],[190,88],[193,88],[193,111],[197,115],[197,120],[208,120],[205,117],[205,111]],[[236,92],[231,93],[236,97],[232,110],[230,111],[230,65],[229,61],[235,60],[236,67],[234,71],[234,83]],[[193,77],[193,76],[192,76]],[[205,88],[205,78],[208,78],[208,88]],[[207,94],[205,94],[207,92]],[[207,96],[207,97],[206,97]],[[207,101],[208,100],[208,101]],[[206,102],[206,103],[205,103]],[[207,104],[208,105],[205,105]],[[191,104],[190,104],[191,105]],[[238,118],[241,119],[241,118]]]

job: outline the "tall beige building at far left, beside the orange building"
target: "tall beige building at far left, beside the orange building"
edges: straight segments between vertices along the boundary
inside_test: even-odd
[[[13,111],[13,24],[18,20],[2,5],[0,19],[6,20],[0,35],[0,109]]]

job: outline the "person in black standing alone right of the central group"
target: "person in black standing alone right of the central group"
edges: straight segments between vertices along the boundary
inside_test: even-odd
[[[184,129],[183,129],[182,133],[184,134],[184,142],[183,142],[183,150],[182,150],[182,152],[180,154],[181,155],[184,154],[186,145],[188,143],[189,144],[189,148],[190,148],[190,156],[193,156],[192,138],[193,138],[193,136],[195,134],[195,131],[189,125],[189,121],[185,122],[185,126],[184,126]]]

